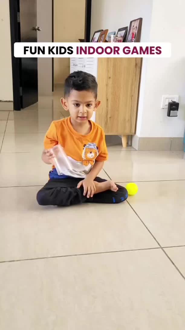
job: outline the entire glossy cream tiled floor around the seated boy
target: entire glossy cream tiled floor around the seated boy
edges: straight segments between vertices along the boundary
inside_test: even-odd
[[[183,153],[123,149],[108,137],[101,176],[137,182],[138,194],[40,207],[44,133],[67,115],[57,93],[0,112],[0,329],[184,330]]]

